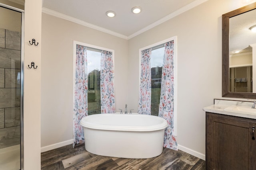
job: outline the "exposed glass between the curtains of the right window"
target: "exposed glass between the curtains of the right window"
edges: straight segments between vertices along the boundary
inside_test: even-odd
[[[156,115],[156,116],[158,116],[158,112],[159,112],[163,60],[164,60],[164,47],[152,50],[151,59],[150,59],[151,115]]]

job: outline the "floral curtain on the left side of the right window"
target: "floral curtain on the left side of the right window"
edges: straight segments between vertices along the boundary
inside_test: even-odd
[[[151,49],[141,51],[141,74],[138,113],[150,115],[151,113]]]

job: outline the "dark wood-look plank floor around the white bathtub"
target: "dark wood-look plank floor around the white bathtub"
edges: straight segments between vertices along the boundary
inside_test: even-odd
[[[164,148],[148,159],[99,156],[87,152],[84,144],[66,145],[41,153],[41,170],[205,170],[206,162],[181,150]]]

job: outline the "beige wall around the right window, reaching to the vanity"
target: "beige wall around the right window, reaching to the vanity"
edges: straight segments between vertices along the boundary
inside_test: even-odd
[[[139,49],[177,36],[179,149],[204,158],[203,107],[222,98],[222,14],[245,6],[242,0],[208,0],[129,39],[128,106],[138,107]]]

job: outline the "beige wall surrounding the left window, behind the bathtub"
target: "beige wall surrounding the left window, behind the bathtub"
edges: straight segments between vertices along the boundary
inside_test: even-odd
[[[73,139],[73,41],[114,50],[116,109],[124,109],[128,41],[42,13],[41,147]]]

